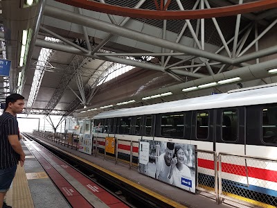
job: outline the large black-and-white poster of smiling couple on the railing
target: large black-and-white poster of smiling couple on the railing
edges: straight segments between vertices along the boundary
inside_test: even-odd
[[[191,144],[141,140],[139,173],[195,193],[195,148]]]

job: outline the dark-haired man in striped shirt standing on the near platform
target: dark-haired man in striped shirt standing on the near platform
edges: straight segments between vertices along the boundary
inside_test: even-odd
[[[17,114],[24,108],[24,96],[11,94],[6,98],[6,107],[0,116],[0,207],[10,207],[3,199],[10,188],[17,164],[24,165],[25,153],[19,142]]]

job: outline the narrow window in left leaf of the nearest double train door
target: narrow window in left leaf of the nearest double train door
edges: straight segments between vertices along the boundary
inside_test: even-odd
[[[196,137],[197,139],[208,139],[208,112],[197,112],[196,119]]]

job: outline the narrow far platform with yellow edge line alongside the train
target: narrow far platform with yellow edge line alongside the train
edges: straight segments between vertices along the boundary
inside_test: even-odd
[[[217,205],[213,196],[203,196],[201,194],[192,194],[177,187],[172,187],[163,182],[153,180],[151,177],[138,173],[137,168],[129,170],[128,164],[118,163],[115,164],[113,159],[103,159],[103,157],[94,157],[94,155],[87,155],[71,148],[64,146],[64,144],[57,144],[55,141],[49,141],[37,135],[33,137],[39,139],[42,143],[55,147],[62,151],[62,153],[70,155],[75,159],[87,163],[89,166],[100,169],[103,173],[111,175],[111,177],[121,180],[125,184],[134,187],[134,189],[143,191],[149,196],[157,198],[168,204],[168,207],[235,207],[233,205],[221,204]],[[240,206],[241,207],[241,206]],[[245,207],[245,206],[243,206]]]

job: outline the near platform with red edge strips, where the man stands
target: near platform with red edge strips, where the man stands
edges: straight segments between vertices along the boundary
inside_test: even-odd
[[[26,154],[18,166],[6,204],[18,208],[127,208],[109,191],[69,166],[36,141],[21,141]]]

